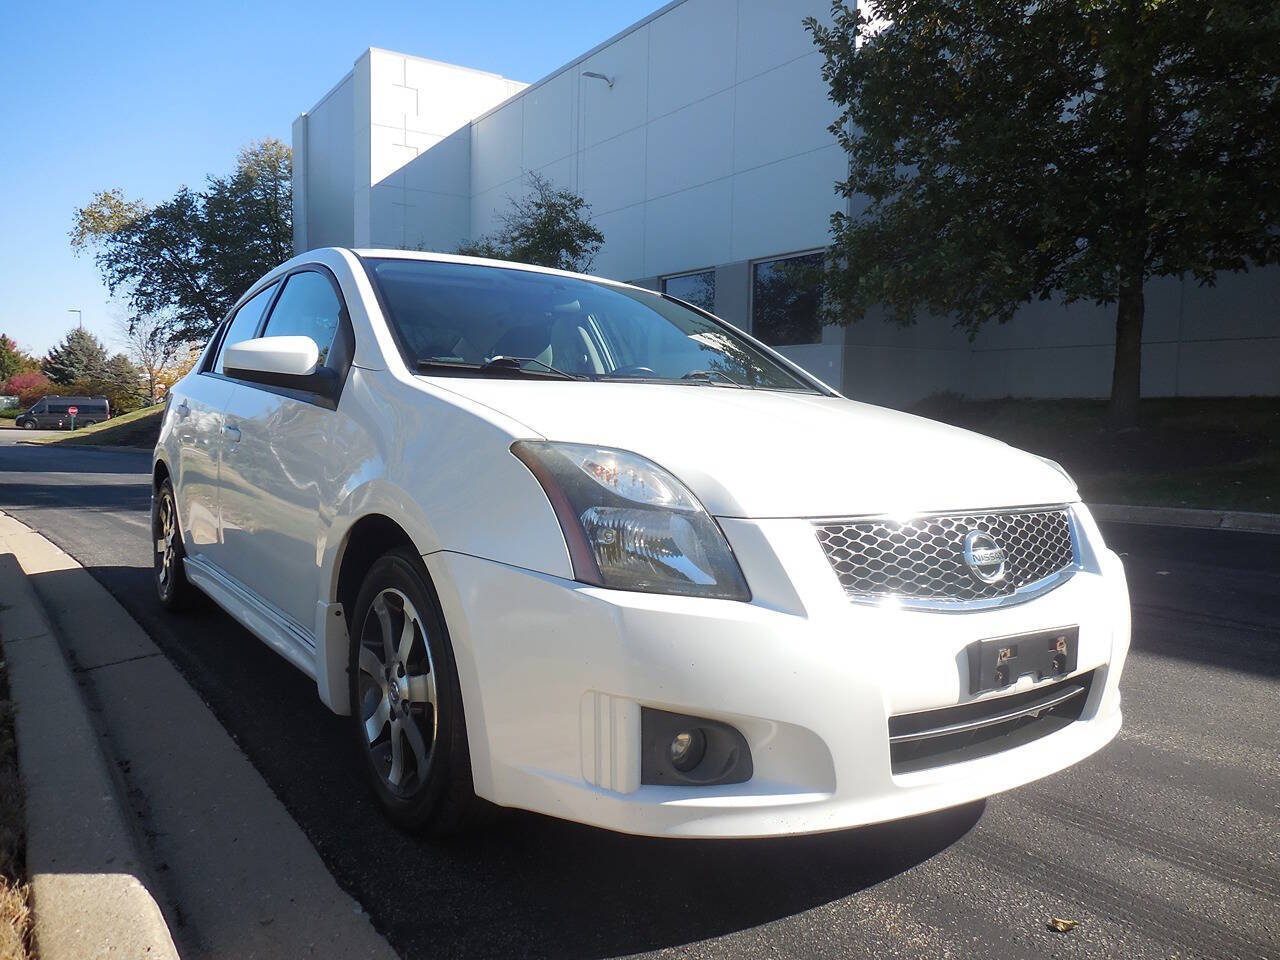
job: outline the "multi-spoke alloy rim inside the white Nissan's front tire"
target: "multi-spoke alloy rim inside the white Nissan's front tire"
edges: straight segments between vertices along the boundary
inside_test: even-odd
[[[357,694],[374,769],[397,796],[426,782],[436,739],[436,690],[426,627],[413,603],[388,588],[360,634]]]

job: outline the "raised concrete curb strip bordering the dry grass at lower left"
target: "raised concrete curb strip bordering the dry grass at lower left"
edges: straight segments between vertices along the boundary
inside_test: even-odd
[[[17,704],[36,948],[44,960],[177,960],[88,709],[9,547],[24,532],[0,515],[0,637]]]

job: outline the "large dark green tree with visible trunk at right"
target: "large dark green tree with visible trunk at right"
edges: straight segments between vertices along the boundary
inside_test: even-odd
[[[836,0],[805,22],[849,154],[832,319],[974,335],[1023,303],[1115,305],[1111,415],[1137,425],[1143,285],[1280,259],[1280,5]],[[873,24],[888,22],[877,28]]]

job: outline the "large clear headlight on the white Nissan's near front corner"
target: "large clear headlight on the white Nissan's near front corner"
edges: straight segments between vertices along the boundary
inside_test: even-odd
[[[518,440],[556,509],[573,579],[617,590],[749,600],[728,540],[682,483],[627,451]]]

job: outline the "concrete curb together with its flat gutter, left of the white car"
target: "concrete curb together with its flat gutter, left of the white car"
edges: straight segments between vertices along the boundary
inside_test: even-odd
[[[88,571],[4,515],[0,564],[42,960],[172,957],[174,942],[188,960],[394,957],[230,736]],[[36,650],[40,659],[23,658]],[[52,740],[44,748],[28,746],[37,718]],[[59,790],[59,778],[83,786]],[[52,800],[37,796],[44,785]],[[46,810],[59,795],[73,806]],[[114,900],[99,892],[101,877],[120,878]]]

